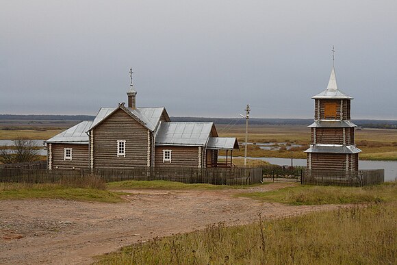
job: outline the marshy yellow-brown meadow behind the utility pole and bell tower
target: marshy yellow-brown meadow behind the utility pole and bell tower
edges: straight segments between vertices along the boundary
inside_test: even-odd
[[[218,134],[225,137],[237,137],[238,141],[244,142],[245,127],[236,125],[231,129],[225,129],[218,125]],[[272,142],[279,144],[300,144],[302,147],[294,147],[286,150],[281,147],[279,151],[260,149],[257,145],[248,145],[248,156],[251,157],[282,157],[306,158],[303,153],[310,143],[310,130],[301,126],[258,126],[249,128],[248,142]],[[360,153],[362,160],[397,160],[397,130],[395,129],[361,129],[355,131],[355,142],[363,152]],[[240,144],[240,151],[233,151],[235,156],[244,156],[244,147]]]

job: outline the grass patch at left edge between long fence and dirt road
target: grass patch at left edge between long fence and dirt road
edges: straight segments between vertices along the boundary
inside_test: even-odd
[[[65,199],[119,203],[123,199],[115,192],[94,188],[75,188],[61,184],[0,183],[0,200],[7,199]]]

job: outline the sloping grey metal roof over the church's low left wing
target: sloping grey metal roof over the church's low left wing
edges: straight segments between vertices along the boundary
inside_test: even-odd
[[[62,133],[57,134],[53,138],[50,138],[47,141],[49,144],[62,142],[62,143],[70,143],[70,144],[88,144],[88,135],[86,131],[92,125],[92,121],[82,121],[81,123],[66,129],[66,131],[62,131]]]

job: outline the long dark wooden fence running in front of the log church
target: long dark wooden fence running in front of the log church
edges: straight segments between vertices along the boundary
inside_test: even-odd
[[[105,182],[125,180],[166,180],[186,184],[250,185],[262,180],[262,168],[133,168],[76,171],[0,168],[0,182],[52,183],[95,175]]]

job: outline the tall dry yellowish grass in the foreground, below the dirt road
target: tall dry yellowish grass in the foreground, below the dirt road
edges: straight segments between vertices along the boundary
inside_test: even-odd
[[[259,219],[259,218],[258,218]],[[397,204],[375,203],[133,244],[96,264],[395,264]]]

